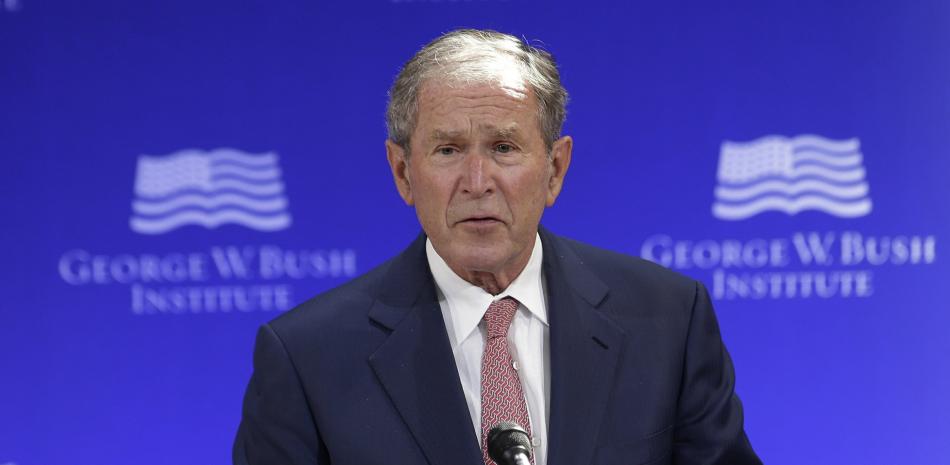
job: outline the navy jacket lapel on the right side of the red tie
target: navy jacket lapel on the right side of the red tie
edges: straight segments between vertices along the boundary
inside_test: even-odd
[[[597,307],[607,286],[564,239],[541,229],[548,291],[548,465],[591,462],[625,333]]]

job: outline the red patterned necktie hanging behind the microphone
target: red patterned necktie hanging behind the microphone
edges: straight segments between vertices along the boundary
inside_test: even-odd
[[[521,425],[531,437],[531,422],[525,404],[521,379],[515,370],[514,359],[508,350],[508,327],[518,310],[518,301],[506,297],[492,302],[485,313],[488,340],[482,354],[482,458],[486,465],[494,465],[488,457],[488,430],[502,421]],[[531,457],[534,463],[534,457]]]

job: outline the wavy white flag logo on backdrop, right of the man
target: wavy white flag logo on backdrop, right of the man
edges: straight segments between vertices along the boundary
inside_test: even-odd
[[[872,204],[858,139],[765,136],[722,144],[713,215],[741,220],[773,210],[853,218]]]

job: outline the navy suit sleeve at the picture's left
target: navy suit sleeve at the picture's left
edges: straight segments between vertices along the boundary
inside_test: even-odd
[[[254,345],[254,373],[234,440],[235,465],[325,465],[330,460],[290,355],[264,325]]]

